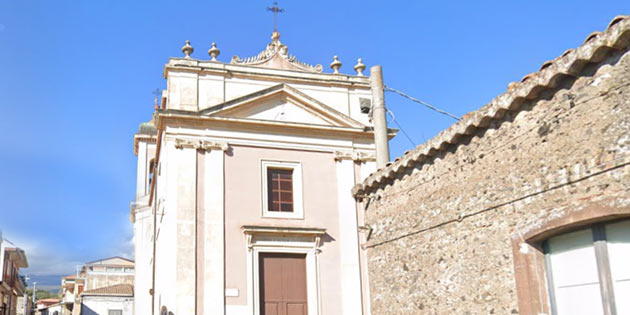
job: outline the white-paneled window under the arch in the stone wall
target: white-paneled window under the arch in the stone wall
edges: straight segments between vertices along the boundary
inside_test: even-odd
[[[552,314],[630,314],[630,221],[555,236],[543,248]]]

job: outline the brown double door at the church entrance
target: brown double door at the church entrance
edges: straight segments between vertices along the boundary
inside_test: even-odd
[[[306,255],[261,253],[260,314],[307,315]]]

